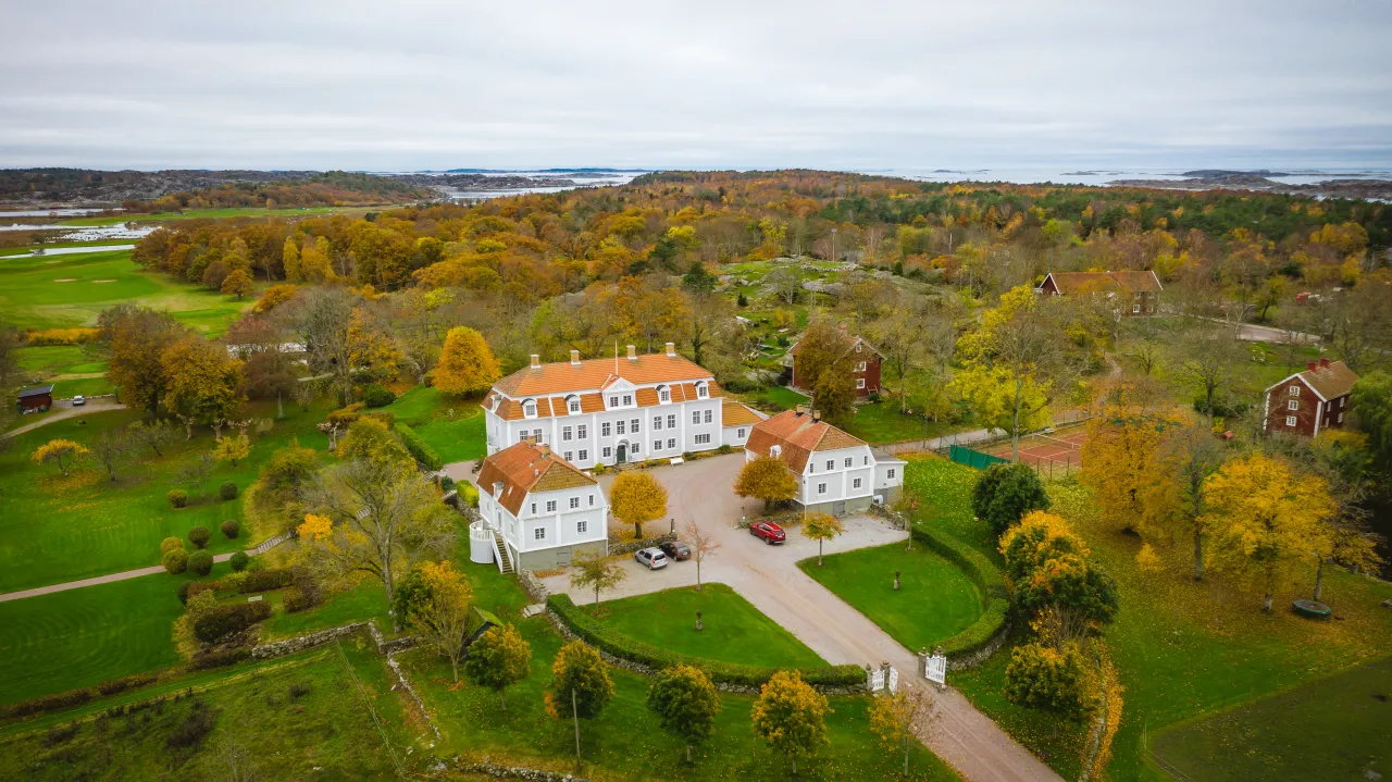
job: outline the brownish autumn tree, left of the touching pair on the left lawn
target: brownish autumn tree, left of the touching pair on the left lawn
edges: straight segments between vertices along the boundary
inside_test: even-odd
[[[107,378],[120,388],[121,401],[153,420],[171,380],[164,351],[187,330],[167,312],[135,305],[102,312],[97,328],[110,351]]]

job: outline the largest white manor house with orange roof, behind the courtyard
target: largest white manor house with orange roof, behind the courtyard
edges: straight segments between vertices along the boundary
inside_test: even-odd
[[[541,363],[498,380],[483,398],[489,455],[544,444],[582,470],[743,447],[760,416],[722,399],[710,370],[677,353]]]

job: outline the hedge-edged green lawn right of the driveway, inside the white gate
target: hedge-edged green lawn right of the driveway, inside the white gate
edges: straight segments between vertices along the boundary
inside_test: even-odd
[[[933,648],[981,615],[981,593],[966,573],[924,545],[891,543],[832,554],[823,568],[816,558],[798,566],[906,648]]]

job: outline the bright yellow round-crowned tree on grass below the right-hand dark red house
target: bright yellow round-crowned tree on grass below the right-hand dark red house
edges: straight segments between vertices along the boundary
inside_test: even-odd
[[[1210,476],[1207,495],[1215,564],[1256,582],[1268,614],[1289,566],[1332,554],[1322,522],[1335,506],[1322,479],[1295,474],[1283,461],[1254,454]]]

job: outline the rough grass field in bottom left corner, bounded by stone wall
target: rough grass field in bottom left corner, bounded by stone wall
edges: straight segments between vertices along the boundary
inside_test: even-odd
[[[200,686],[193,699],[129,717],[82,721],[68,739],[32,732],[0,742],[0,776],[226,779],[228,750],[237,747],[255,774],[238,779],[397,778],[397,761],[411,768],[412,760],[402,737],[405,715],[386,685],[381,658],[359,644],[349,639],[245,675],[226,675]],[[292,685],[299,694],[291,693]],[[195,699],[210,708],[212,732],[195,747],[168,747],[166,739]]]

